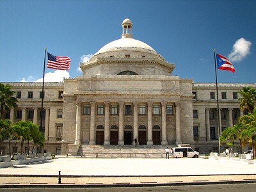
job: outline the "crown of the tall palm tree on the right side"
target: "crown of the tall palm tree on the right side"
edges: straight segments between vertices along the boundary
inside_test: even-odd
[[[252,86],[246,86],[242,88],[238,93],[240,93],[242,96],[239,98],[240,109],[243,111],[248,110],[250,113],[252,113],[255,106],[256,89]]]

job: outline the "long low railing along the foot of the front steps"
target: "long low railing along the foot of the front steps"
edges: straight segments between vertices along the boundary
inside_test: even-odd
[[[82,152],[81,157],[94,157],[94,158],[162,158],[165,153],[124,153],[124,152]]]

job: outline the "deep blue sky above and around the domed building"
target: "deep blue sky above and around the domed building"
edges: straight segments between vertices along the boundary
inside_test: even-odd
[[[42,78],[44,47],[72,60],[67,72],[45,68],[50,81],[81,76],[81,58],[121,38],[126,18],[135,39],[175,63],[173,75],[214,83],[216,49],[236,68],[218,70],[219,82],[255,83],[253,0],[0,0],[0,82]]]

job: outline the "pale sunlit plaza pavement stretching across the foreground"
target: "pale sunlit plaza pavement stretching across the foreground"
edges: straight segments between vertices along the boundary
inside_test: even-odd
[[[58,177],[59,171],[61,177]],[[0,169],[0,188],[256,182],[256,164],[226,159],[68,157]]]

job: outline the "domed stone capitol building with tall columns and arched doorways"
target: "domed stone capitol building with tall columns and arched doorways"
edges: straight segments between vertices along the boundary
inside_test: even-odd
[[[80,63],[83,76],[45,83],[44,94],[42,83],[4,82],[12,85],[19,100],[7,118],[40,125],[44,95],[44,149],[53,154],[80,156],[88,148],[159,150],[179,144],[201,154],[218,152],[216,84],[173,76],[175,65],[134,39],[132,25],[125,19],[120,39]],[[237,99],[244,86],[256,84],[218,84],[221,130],[243,115]],[[221,151],[225,147],[221,145]],[[1,150],[8,152],[8,141]],[[239,150],[237,143],[235,152]]]

